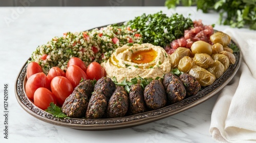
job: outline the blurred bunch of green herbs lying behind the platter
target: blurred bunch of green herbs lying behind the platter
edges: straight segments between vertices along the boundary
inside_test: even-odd
[[[166,0],[167,8],[197,6],[204,13],[220,13],[219,24],[256,30],[256,0]]]

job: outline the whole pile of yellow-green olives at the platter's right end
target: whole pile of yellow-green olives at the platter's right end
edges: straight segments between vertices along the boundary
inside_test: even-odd
[[[231,38],[223,32],[210,36],[212,45],[205,41],[196,41],[191,50],[179,47],[170,55],[172,68],[194,76],[201,86],[211,85],[220,78],[230,64],[236,62],[233,50],[228,47]]]

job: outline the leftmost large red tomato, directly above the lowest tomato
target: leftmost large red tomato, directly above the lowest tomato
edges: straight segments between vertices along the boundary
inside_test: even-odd
[[[34,100],[35,90],[39,87],[50,89],[50,82],[44,73],[36,73],[27,80],[25,90],[29,99]]]

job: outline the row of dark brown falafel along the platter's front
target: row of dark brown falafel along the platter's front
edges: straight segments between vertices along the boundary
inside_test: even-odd
[[[129,93],[123,86],[116,86],[111,78],[102,77],[95,84],[83,80],[63,103],[61,110],[69,117],[88,119],[122,117],[160,109],[197,94],[199,82],[183,73],[173,73],[163,79],[153,80],[143,89],[133,84]]]

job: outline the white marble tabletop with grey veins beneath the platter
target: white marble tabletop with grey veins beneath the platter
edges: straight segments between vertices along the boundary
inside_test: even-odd
[[[83,31],[160,10],[168,15],[175,12],[165,7],[0,7],[0,142],[215,142],[209,126],[218,95],[163,120],[110,131],[81,131],[42,122],[15,99],[16,76],[38,45],[67,31]],[[176,12],[191,13],[193,20],[202,19],[205,25],[218,21],[218,14],[203,14],[196,8],[177,8]],[[8,139],[3,134],[4,83],[9,84]]]

